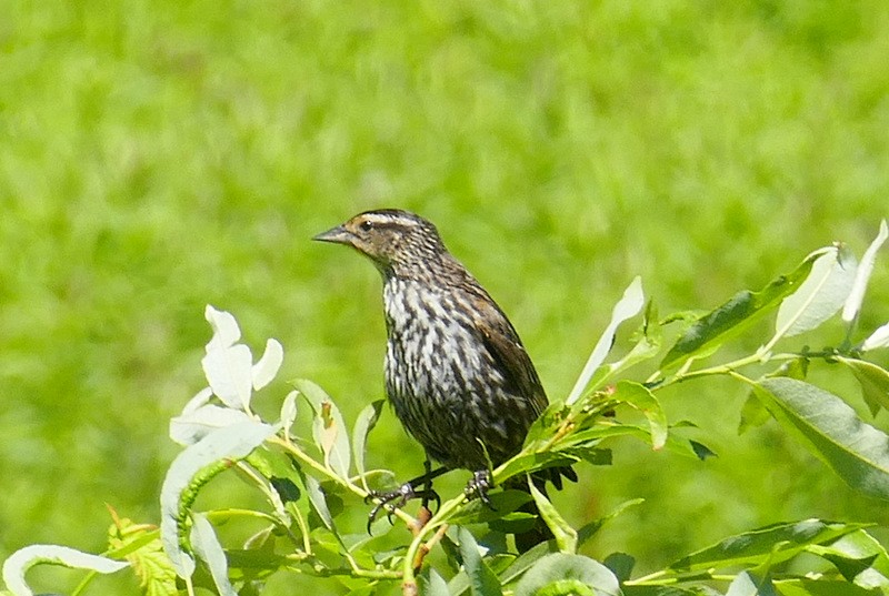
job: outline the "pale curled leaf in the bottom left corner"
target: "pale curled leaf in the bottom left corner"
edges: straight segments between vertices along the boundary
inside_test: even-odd
[[[32,596],[33,592],[24,582],[24,574],[34,565],[43,563],[100,574],[110,574],[129,567],[126,560],[90,555],[67,546],[34,544],[16,550],[3,562],[3,583],[16,596]]]

